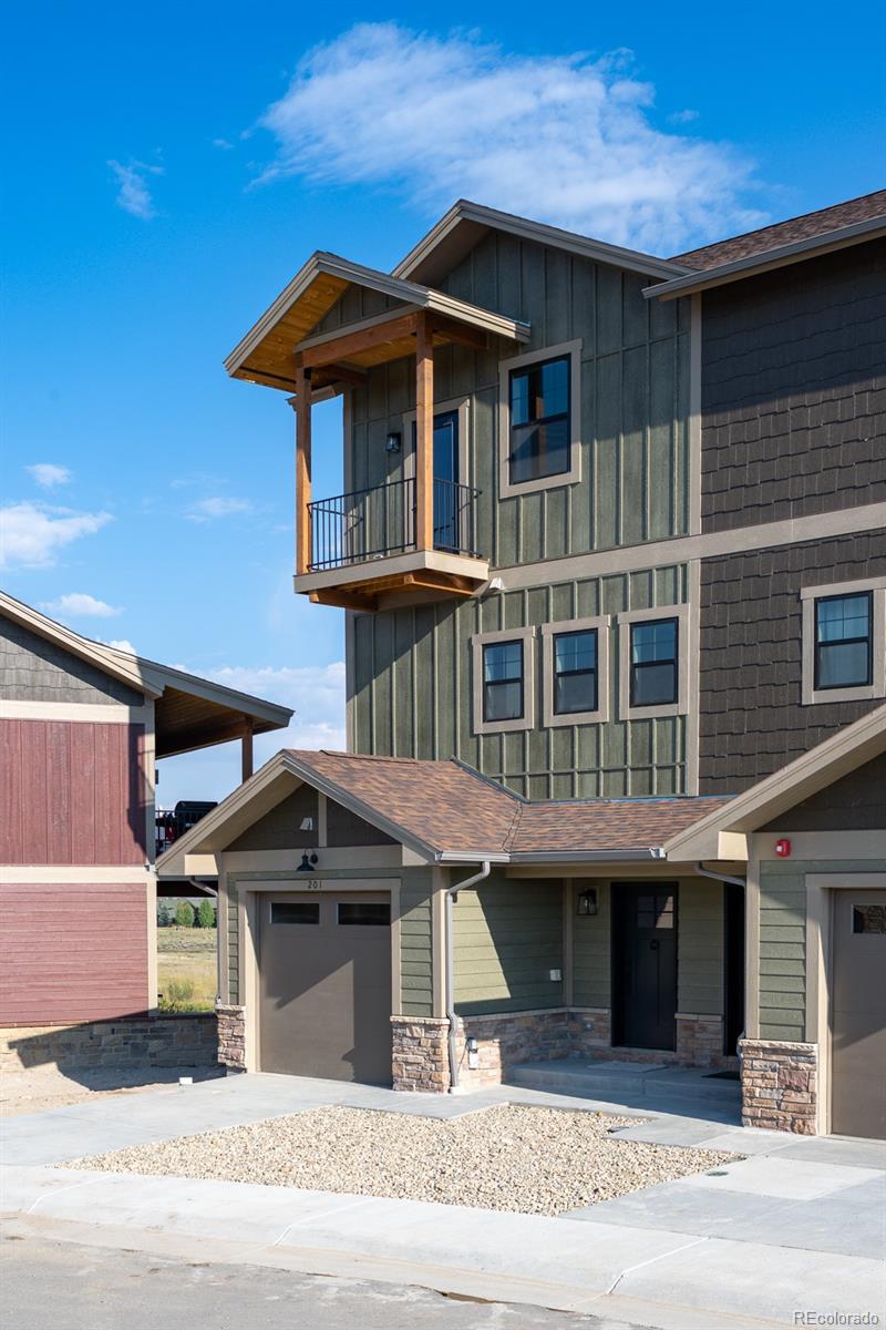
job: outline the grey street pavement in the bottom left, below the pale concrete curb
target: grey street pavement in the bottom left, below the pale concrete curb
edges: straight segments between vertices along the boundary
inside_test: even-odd
[[[209,1256],[207,1250],[207,1256]],[[631,1330],[425,1289],[7,1236],[1,1330]]]

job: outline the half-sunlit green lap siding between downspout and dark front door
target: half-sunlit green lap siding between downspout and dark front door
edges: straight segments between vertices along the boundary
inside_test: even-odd
[[[453,906],[460,1015],[562,1007],[563,890],[559,880],[490,878]]]

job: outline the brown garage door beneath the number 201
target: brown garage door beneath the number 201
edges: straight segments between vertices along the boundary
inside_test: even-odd
[[[262,1071],[389,1085],[389,894],[264,896],[260,919]]]

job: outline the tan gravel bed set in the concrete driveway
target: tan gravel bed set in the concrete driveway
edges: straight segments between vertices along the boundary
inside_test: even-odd
[[[523,1214],[562,1214],[740,1158],[618,1140],[635,1117],[502,1104],[440,1121],[320,1108],[65,1168],[260,1182]]]

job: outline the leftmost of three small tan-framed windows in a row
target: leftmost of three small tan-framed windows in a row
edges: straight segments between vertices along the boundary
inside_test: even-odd
[[[535,724],[534,628],[478,633],[470,640],[474,734],[531,730]]]

